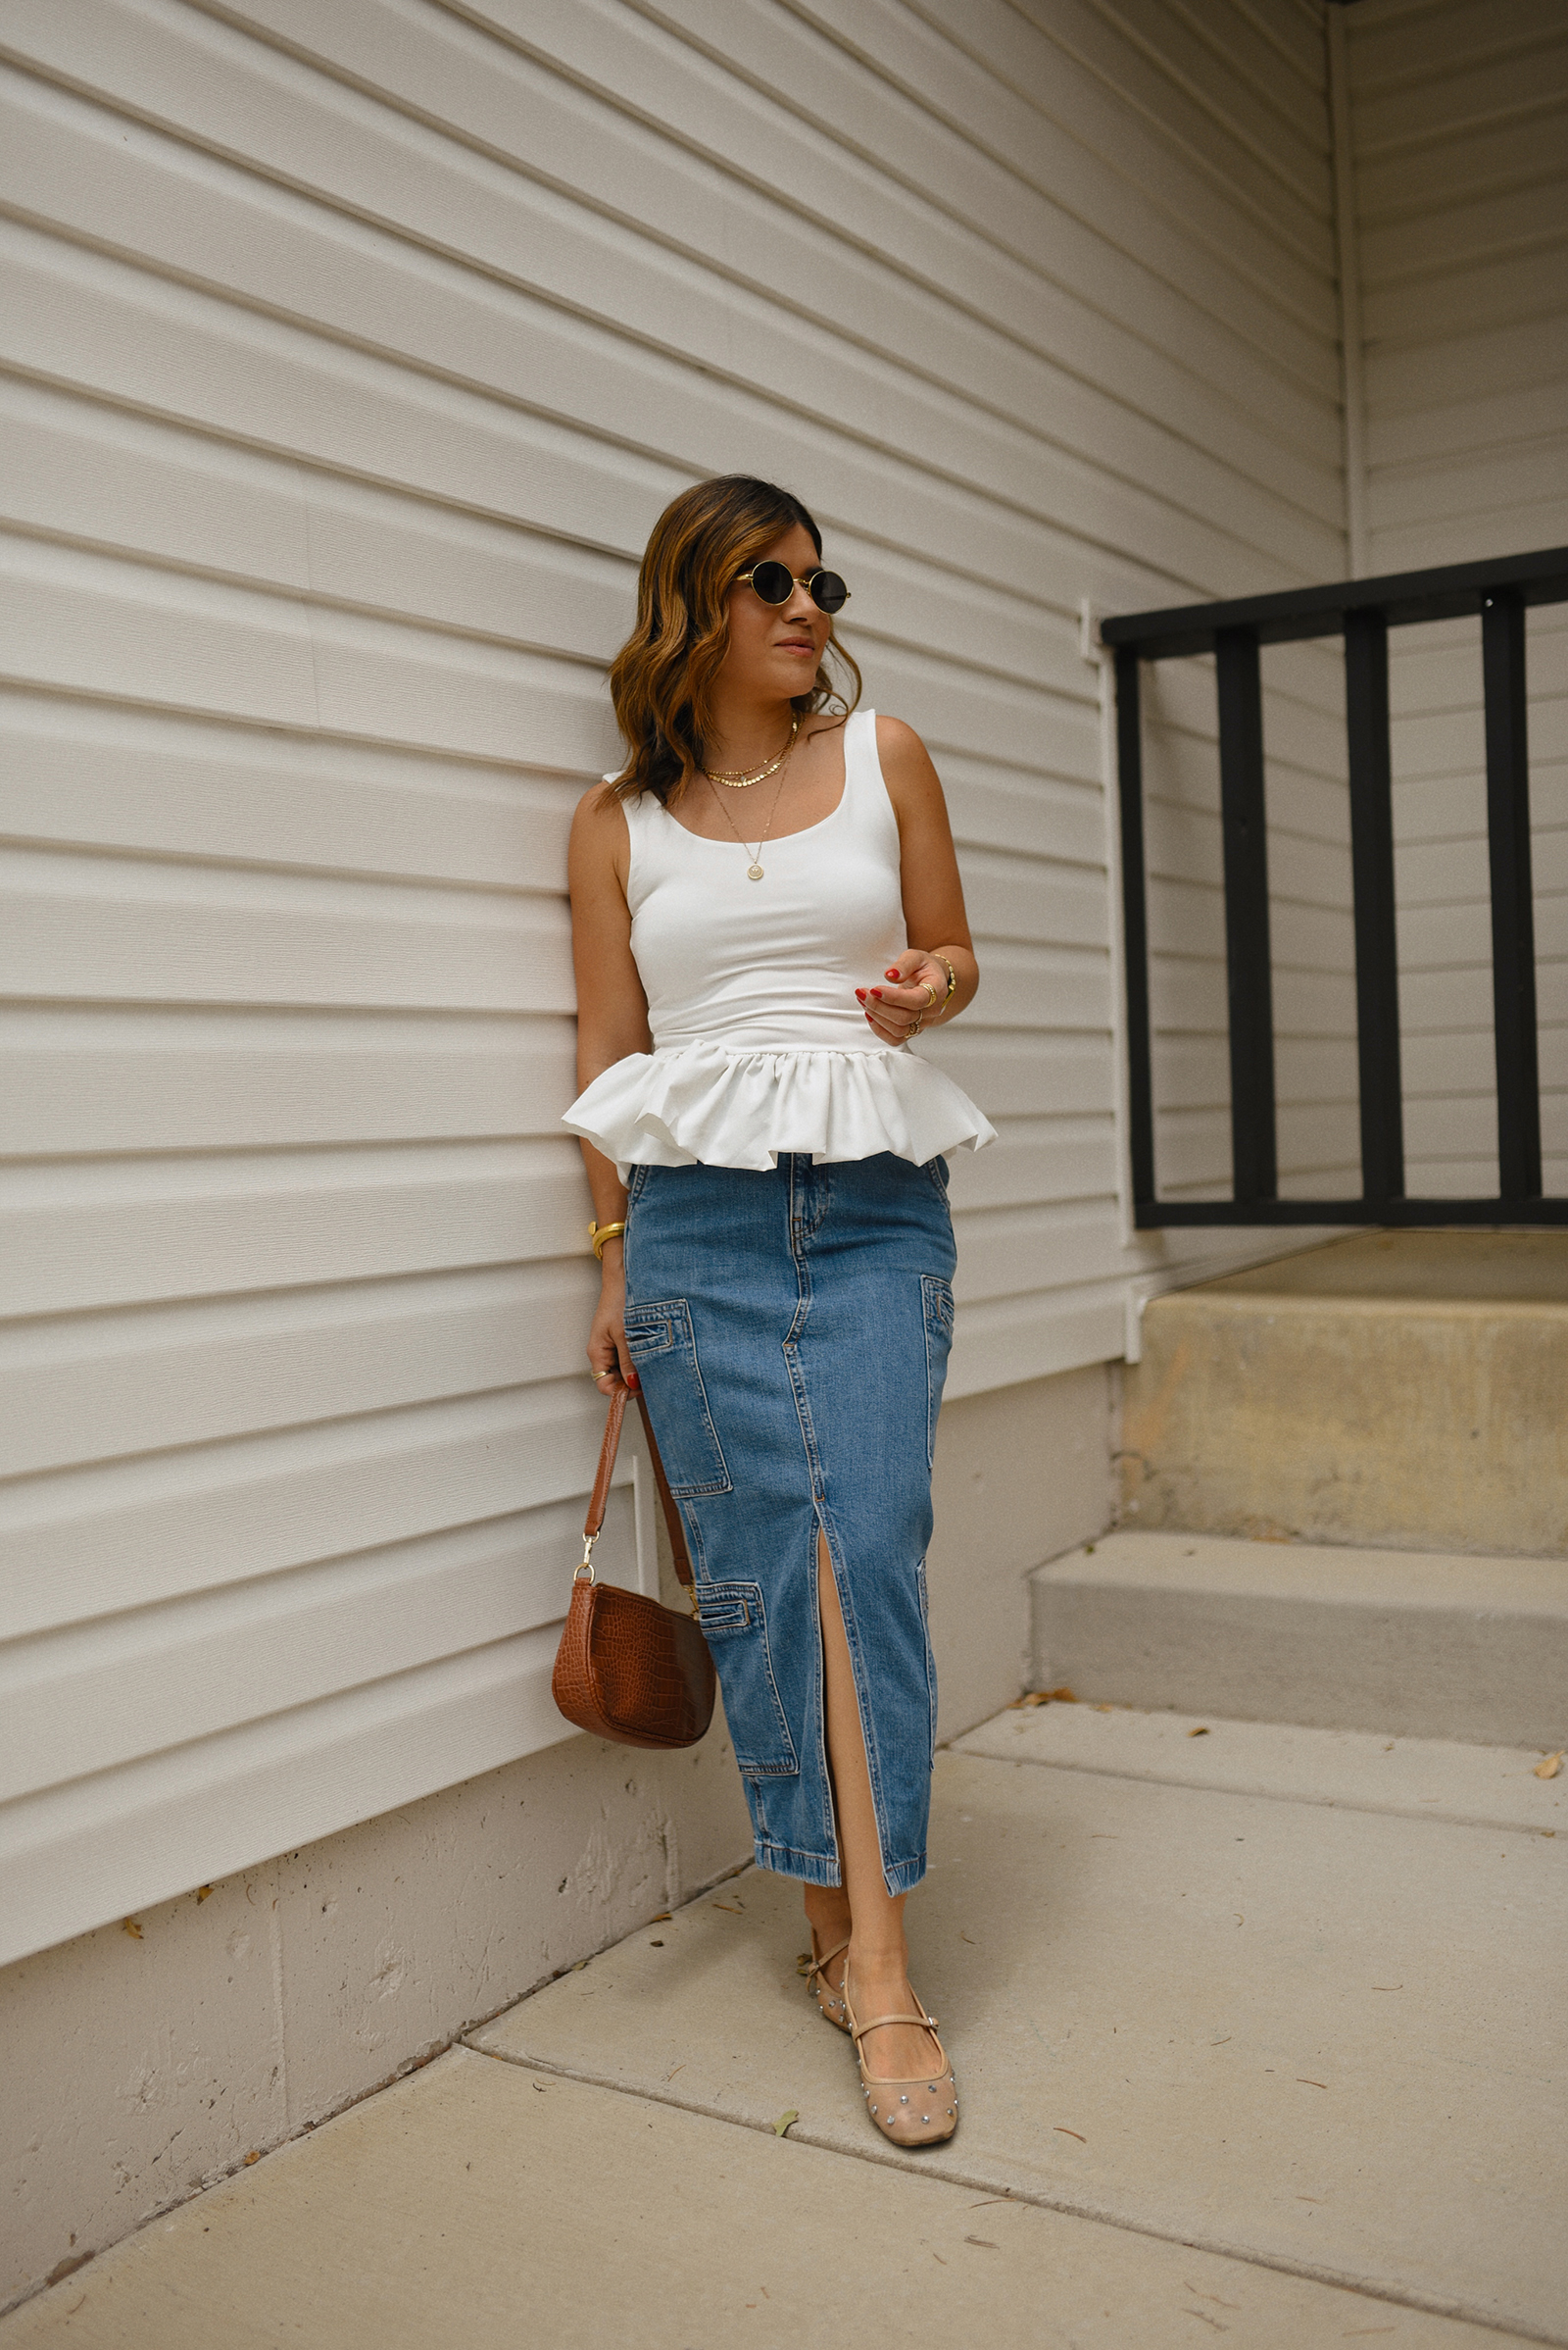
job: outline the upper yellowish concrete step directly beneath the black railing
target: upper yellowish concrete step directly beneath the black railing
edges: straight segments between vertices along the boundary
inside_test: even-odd
[[[1157,1297],[1143,1528],[1568,1553],[1568,1231],[1371,1231]]]

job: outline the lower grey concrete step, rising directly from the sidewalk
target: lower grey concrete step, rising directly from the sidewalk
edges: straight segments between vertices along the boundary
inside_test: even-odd
[[[1115,1532],[1030,1577],[1033,1685],[1476,1746],[1568,1744],[1568,1558]]]

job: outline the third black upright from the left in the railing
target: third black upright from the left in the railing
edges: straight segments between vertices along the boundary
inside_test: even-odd
[[[1380,611],[1345,613],[1345,731],[1350,740],[1361,1191],[1373,1208],[1404,1196],[1394,794],[1387,731],[1387,620]]]

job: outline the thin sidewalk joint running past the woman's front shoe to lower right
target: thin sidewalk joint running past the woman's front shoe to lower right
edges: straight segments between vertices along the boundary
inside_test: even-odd
[[[981,1755],[976,1760],[988,1758]],[[542,2073],[547,2080],[573,2080],[584,2089],[613,2089],[617,2096],[627,2096],[641,2106],[674,2106],[678,2113],[695,2113],[702,2120],[723,2122],[728,2129],[751,2129],[765,2138],[775,2136],[775,2124],[768,2120],[751,2122],[739,2113],[721,2113],[716,2106],[707,2106],[692,2096],[676,2096],[669,2089],[636,2087],[634,2082],[615,2080],[610,2073],[589,2073],[580,2066],[547,2063],[540,2056],[512,2056],[505,2049],[477,2047],[467,2037],[462,2037],[458,2047],[465,2047],[472,2056],[488,2056],[493,2063],[509,2063],[519,2073]],[[803,2122],[791,2124],[789,2138],[798,2146],[812,2146],[824,2155],[840,2155],[845,2162],[873,2162],[878,2169],[901,2171],[908,2178],[939,2178],[944,2186],[974,2188],[981,2195],[1000,2195],[1005,2202],[1030,2204],[1038,2211],[1059,2211],[1066,2218],[1084,2218],[1099,2228],[1120,2228],[1124,2235],[1143,2235],[1157,2244],[1181,2244],[1183,2251],[1209,2251],[1221,2261],[1237,2261],[1246,2268],[1270,2268],[1282,2277],[1300,2277],[1305,2284],[1329,2284],[1343,2294],[1359,2294],[1361,2301],[1371,2301],[1383,2308],[1420,2310],[1422,2317],[1451,2317],[1460,2324],[1500,2334],[1505,2341],[1540,2343],[1542,2350],[1568,2350],[1568,2334],[1542,2334],[1528,2322],[1502,2319],[1491,2310],[1472,2308],[1469,2303],[1453,2301],[1446,2294],[1422,2294],[1415,2284],[1368,2282],[1366,2277],[1347,2275],[1340,2268],[1326,2268],[1319,2261],[1289,2261],[1282,2254],[1258,2251],[1249,2244],[1232,2244],[1216,2235],[1183,2235],[1178,2228],[1157,2228],[1148,2221],[1129,2218],[1124,2211],[1115,2211],[1108,2204],[1089,2202],[1087,2197],[1019,2190],[1007,2186],[1005,2178],[988,2176],[986,2171],[972,2171],[955,2162],[937,2162],[930,2155],[911,2162],[899,2160],[892,2148],[883,2150],[880,2143],[866,2143],[864,2148],[840,2146],[833,2138],[817,2136]]]

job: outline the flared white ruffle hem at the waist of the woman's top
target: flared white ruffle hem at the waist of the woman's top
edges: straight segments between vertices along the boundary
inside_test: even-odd
[[[577,1095],[563,1123],[613,1159],[622,1182],[634,1166],[768,1170],[779,1152],[824,1163],[892,1152],[925,1166],[995,1142],[951,1076],[897,1046],[737,1053],[702,1041],[629,1053]]]

